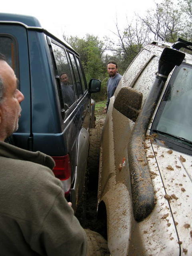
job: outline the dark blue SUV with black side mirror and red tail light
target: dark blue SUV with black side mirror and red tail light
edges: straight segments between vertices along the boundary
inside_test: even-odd
[[[14,144],[55,160],[54,174],[76,209],[84,187],[89,131],[100,80],[87,86],[79,54],[32,16],[0,14],[0,52],[14,69],[25,100]]]

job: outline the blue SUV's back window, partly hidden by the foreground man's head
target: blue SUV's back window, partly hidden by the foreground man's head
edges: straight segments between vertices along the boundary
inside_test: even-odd
[[[0,53],[5,56],[6,61],[18,76],[18,66],[16,63],[16,41],[14,38],[6,35],[0,35]]]

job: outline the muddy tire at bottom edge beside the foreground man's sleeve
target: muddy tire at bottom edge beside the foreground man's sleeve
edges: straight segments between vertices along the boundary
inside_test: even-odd
[[[97,232],[85,229],[87,235],[86,256],[109,256],[107,241]]]

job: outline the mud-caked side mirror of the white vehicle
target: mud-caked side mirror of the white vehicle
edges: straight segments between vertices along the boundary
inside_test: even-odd
[[[114,108],[132,121],[136,121],[143,94],[132,87],[122,87],[114,101]]]

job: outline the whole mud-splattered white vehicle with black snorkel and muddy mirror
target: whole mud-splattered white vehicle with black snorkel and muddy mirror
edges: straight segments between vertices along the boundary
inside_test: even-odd
[[[192,255],[191,46],[147,45],[110,99],[98,216],[112,256]]]

